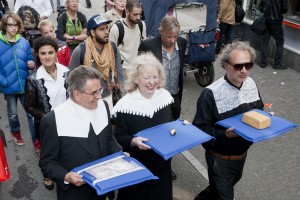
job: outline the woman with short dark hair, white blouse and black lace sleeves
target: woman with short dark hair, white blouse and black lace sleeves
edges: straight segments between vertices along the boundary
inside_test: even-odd
[[[40,122],[44,115],[67,100],[67,67],[57,63],[57,42],[50,37],[40,37],[34,42],[37,65],[41,65],[26,80],[25,109],[34,116],[34,149],[40,146]],[[45,187],[53,189],[53,182],[44,178]]]

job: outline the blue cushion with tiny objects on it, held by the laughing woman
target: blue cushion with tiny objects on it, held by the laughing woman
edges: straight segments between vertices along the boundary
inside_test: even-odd
[[[165,160],[212,139],[212,136],[180,119],[145,129],[134,136],[147,138],[145,144]]]

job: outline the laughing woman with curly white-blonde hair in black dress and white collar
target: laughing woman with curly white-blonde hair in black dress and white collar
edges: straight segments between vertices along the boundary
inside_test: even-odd
[[[173,97],[165,90],[161,63],[150,53],[139,55],[129,70],[127,94],[112,111],[115,136],[123,150],[138,159],[159,180],[150,180],[120,189],[118,200],[172,200],[171,159],[164,160],[147,144],[147,138],[133,135],[172,121]]]

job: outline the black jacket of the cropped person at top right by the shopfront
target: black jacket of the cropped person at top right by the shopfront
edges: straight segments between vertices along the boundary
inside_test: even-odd
[[[268,20],[283,20],[288,11],[288,0],[262,0],[260,10]]]

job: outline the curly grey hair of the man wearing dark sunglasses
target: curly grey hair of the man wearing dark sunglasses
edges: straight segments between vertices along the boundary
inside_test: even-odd
[[[223,68],[224,64],[229,61],[230,54],[233,50],[248,51],[252,62],[254,62],[256,58],[255,50],[250,46],[249,42],[234,41],[231,44],[227,44],[222,51],[221,66]]]

